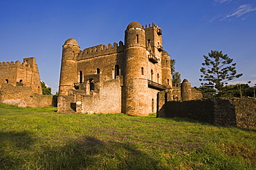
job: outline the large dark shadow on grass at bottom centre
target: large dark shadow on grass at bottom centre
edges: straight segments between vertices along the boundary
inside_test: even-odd
[[[102,141],[91,136],[44,151],[37,161],[42,169],[167,169],[134,144]]]

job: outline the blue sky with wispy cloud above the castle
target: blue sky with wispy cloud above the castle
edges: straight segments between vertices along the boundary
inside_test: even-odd
[[[0,0],[0,62],[35,56],[41,80],[55,94],[66,39],[76,39],[82,50],[118,43],[132,21],[162,28],[164,50],[192,87],[201,83],[203,55],[210,50],[237,63],[244,76],[234,83],[256,84],[255,0]]]

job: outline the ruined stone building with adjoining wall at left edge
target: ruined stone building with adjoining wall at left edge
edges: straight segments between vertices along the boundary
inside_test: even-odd
[[[0,103],[19,107],[51,106],[53,96],[42,95],[35,57],[0,63]]]

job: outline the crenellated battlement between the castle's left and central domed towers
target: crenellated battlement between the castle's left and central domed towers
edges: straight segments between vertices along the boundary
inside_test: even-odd
[[[108,45],[96,45],[93,47],[88,47],[85,48],[83,51],[80,51],[80,55],[77,56],[77,60],[82,60],[82,59],[89,59],[97,56],[102,56],[102,55],[109,55],[113,53],[119,53],[123,52],[125,49],[125,45],[122,41],[119,41],[118,43],[109,43]]]

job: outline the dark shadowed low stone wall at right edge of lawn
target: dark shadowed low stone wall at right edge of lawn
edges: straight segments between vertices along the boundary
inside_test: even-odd
[[[183,102],[166,101],[158,109],[157,117],[192,118],[225,127],[255,128],[256,100],[253,98],[212,98]]]

